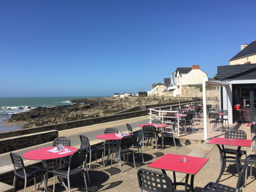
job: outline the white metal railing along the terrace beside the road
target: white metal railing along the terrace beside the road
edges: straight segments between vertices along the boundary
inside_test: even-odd
[[[208,101],[207,101],[208,102]],[[209,102],[214,102],[214,101],[209,101]],[[148,119],[150,119],[150,123],[152,119],[160,119],[162,121],[162,123],[164,124],[173,124],[172,122],[168,122],[168,120],[164,121],[163,118],[166,118],[166,114],[168,112],[172,111],[172,108],[180,108],[180,105],[195,105],[195,104],[201,104],[202,102],[188,102],[188,103],[180,103],[179,100],[179,104],[175,104],[175,105],[168,105],[168,106],[162,106],[162,107],[156,107],[156,108],[149,108],[149,117]],[[169,109],[165,109],[163,110],[163,108],[169,108]],[[171,118],[177,118],[177,124],[176,124],[176,128],[175,128],[175,134],[179,137],[180,136],[180,117],[178,116],[178,112],[179,111],[172,111],[173,113],[177,113],[177,117],[171,117]],[[167,126],[168,128],[168,126]],[[171,128],[171,127],[169,127]]]

